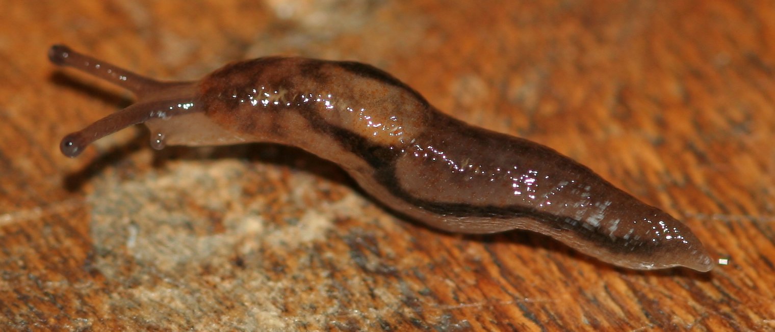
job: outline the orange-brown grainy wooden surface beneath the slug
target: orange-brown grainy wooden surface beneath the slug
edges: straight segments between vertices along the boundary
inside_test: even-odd
[[[775,2],[0,2],[2,330],[775,330]],[[152,77],[294,54],[391,72],[688,224],[707,274],[634,272],[536,234],[387,212],[297,149],[156,152],[68,132]]]

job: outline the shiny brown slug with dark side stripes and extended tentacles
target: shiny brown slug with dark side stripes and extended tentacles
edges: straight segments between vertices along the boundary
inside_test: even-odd
[[[686,225],[526,139],[467,125],[367,64],[263,57],[199,81],[142,77],[67,46],[52,63],[108,80],[136,103],[62,139],[74,157],[130,125],[165,145],[275,142],[329,159],[374,199],[443,231],[522,229],[629,269],[712,269]]]

